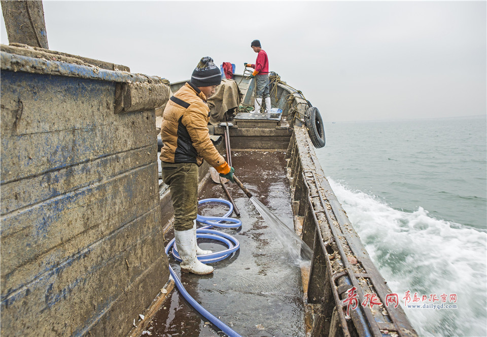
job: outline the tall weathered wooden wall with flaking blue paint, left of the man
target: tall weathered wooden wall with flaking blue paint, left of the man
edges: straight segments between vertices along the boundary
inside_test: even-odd
[[[7,46],[1,60],[1,334],[125,335],[169,276],[159,102],[142,102],[160,82]]]

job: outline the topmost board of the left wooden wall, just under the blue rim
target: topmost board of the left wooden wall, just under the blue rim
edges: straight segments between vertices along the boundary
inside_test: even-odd
[[[2,79],[2,136],[94,129],[120,120],[113,115],[112,82],[13,71],[2,71]],[[19,100],[22,117],[12,130],[10,113],[17,110]]]

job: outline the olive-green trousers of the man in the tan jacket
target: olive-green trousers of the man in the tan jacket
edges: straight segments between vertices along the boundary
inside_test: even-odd
[[[185,231],[193,228],[198,211],[198,165],[193,163],[162,162],[162,181],[169,185],[174,229]]]

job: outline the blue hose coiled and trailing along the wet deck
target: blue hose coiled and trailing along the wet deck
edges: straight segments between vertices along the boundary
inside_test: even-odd
[[[214,252],[212,254],[208,255],[201,255],[198,256],[198,260],[201,263],[208,264],[208,263],[214,263],[221,261],[223,259],[228,258],[230,255],[232,255],[235,251],[238,250],[240,247],[240,243],[238,242],[237,239],[235,239],[233,236],[228,235],[223,232],[219,232],[216,230],[212,230],[210,228],[212,227],[223,227],[223,228],[239,228],[242,225],[242,222],[238,219],[233,219],[233,218],[228,218],[233,212],[233,205],[231,202],[224,200],[224,199],[216,199],[216,198],[210,198],[210,199],[203,199],[198,202],[198,204],[202,204],[205,202],[220,202],[226,204],[230,210],[225,214],[223,217],[203,217],[200,216],[199,214],[196,217],[196,221],[207,224],[208,226],[201,227],[199,229],[196,229],[196,237],[203,237],[207,239],[212,239],[212,240],[217,240],[225,243],[228,246],[228,249]],[[222,224],[222,222],[225,222]],[[169,254],[169,251],[171,250],[172,256],[181,262],[181,258],[179,257],[178,251],[176,249],[176,245],[174,244],[175,239],[172,239],[169,241],[169,244],[165,248],[166,254]],[[183,283],[179,279],[179,277],[176,275],[174,270],[171,268],[169,265],[169,273],[171,274],[172,278],[174,279],[174,282],[176,286],[178,287],[178,290],[181,292],[183,297],[185,298],[186,301],[194,308],[196,309],[197,312],[199,312],[203,317],[205,317],[207,320],[212,322],[215,326],[217,326],[220,330],[222,330],[224,333],[226,333],[230,337],[241,337],[237,332],[232,330],[228,325],[223,323],[221,320],[216,318],[214,315],[212,315],[210,312],[208,312],[206,309],[204,309],[198,302],[196,302],[191,295],[186,291],[186,289],[183,286]]]

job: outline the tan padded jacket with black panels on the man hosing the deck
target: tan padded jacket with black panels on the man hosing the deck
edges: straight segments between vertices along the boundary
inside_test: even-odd
[[[218,153],[208,133],[210,108],[206,97],[192,83],[187,82],[169,98],[162,115],[161,160],[193,162],[198,166],[205,159],[219,173],[227,174],[230,166]]]

